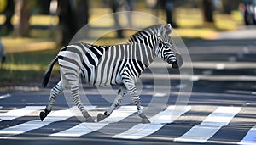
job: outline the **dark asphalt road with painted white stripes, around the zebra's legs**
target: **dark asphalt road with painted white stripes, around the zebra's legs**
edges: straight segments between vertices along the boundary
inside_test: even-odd
[[[129,96],[108,120],[84,124],[81,114],[70,111],[68,92],[43,122],[38,113],[50,88],[1,92],[0,144],[256,144],[255,34],[255,28],[242,28],[216,40],[187,42],[194,75],[187,73],[189,64],[178,71],[156,61],[142,75],[142,103],[152,121],[147,125],[140,123]],[[110,106],[116,92],[116,86],[83,88],[94,117]]]

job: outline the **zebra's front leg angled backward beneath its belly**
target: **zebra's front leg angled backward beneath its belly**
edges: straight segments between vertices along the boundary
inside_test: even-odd
[[[108,116],[110,116],[110,114],[112,114],[113,110],[116,109],[119,104],[122,102],[122,99],[124,98],[126,93],[126,89],[125,86],[121,85],[121,87],[119,88],[119,92],[116,96],[116,98],[114,99],[112,105],[110,106],[110,108],[104,112],[104,114],[98,114],[97,115],[97,122],[106,119]]]

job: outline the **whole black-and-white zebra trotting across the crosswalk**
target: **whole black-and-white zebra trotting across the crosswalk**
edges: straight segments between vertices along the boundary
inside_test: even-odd
[[[119,106],[122,98],[128,92],[132,102],[137,106],[137,114],[143,123],[150,123],[143,113],[141,100],[135,86],[139,76],[148,68],[155,57],[172,64],[172,68],[178,69],[183,64],[183,59],[172,42],[169,34],[171,25],[153,25],[142,31],[137,31],[125,44],[113,46],[97,46],[84,42],[76,42],[61,48],[55,59],[45,71],[42,85],[45,87],[49,81],[54,64],[60,65],[61,81],[50,91],[49,102],[44,111],[40,112],[40,119],[50,113],[55,98],[70,86],[73,103],[77,105],[84,116],[85,122],[95,122],[84,109],[79,98],[80,75],[85,83],[90,86],[119,85],[119,90],[112,105],[104,112],[97,115],[97,121],[107,118],[114,109]]]

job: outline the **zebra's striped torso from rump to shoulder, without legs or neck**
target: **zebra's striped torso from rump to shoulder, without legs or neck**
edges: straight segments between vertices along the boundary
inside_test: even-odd
[[[75,43],[64,47],[58,54],[63,75],[83,75],[85,83],[90,86],[111,86],[121,84],[121,74],[130,67],[131,75],[140,75],[154,59],[149,48],[136,44],[119,44],[115,46],[95,46]]]

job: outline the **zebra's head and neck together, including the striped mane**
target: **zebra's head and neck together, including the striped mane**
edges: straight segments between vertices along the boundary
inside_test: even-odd
[[[142,31],[137,31],[132,35],[128,43],[139,43],[154,50],[155,55],[164,59],[167,63],[172,64],[172,68],[178,69],[183,64],[183,59],[177,48],[172,42],[169,34],[172,31],[172,26],[168,25],[152,25]]]

